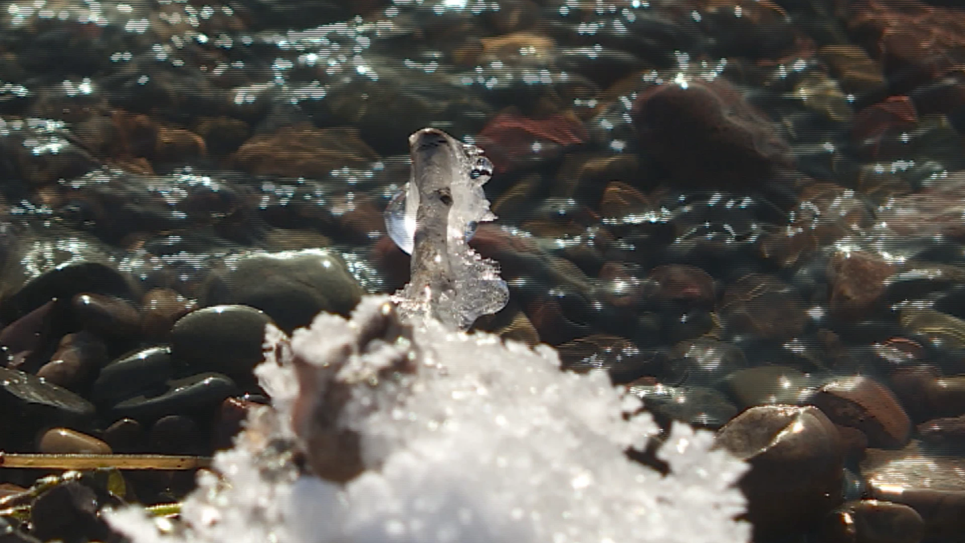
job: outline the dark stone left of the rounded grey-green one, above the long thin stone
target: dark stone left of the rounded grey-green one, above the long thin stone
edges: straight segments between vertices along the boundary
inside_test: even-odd
[[[173,375],[174,363],[168,347],[141,349],[104,366],[91,389],[91,399],[109,403],[141,392],[164,390]]]

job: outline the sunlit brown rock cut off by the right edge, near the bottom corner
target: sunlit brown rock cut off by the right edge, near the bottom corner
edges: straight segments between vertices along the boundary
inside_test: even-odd
[[[924,520],[924,541],[952,543],[965,533],[965,464],[924,454],[919,443],[901,450],[869,449],[861,464],[869,497],[903,503]]]

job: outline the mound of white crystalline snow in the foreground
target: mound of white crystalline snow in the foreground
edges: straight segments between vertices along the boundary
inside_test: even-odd
[[[429,250],[465,248],[447,238],[430,239]],[[414,246],[425,248],[419,233]],[[256,373],[272,406],[218,453],[217,475],[199,475],[177,523],[129,507],[106,513],[112,526],[134,543],[750,539],[750,526],[733,520],[746,465],[712,450],[711,433],[676,424],[657,454],[666,475],[628,459],[625,450],[658,429],[605,372],[565,373],[547,346],[467,334],[458,315],[454,325],[431,308],[406,309],[439,302],[432,296],[399,302],[452,272],[434,264],[422,272],[442,279],[365,298],[348,320],[321,314],[290,338],[268,327]]]

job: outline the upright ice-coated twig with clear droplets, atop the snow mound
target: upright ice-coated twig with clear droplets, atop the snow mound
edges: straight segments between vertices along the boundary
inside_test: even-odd
[[[385,214],[389,235],[412,254],[412,280],[394,300],[403,319],[468,329],[510,300],[496,263],[468,244],[477,224],[496,218],[483,192],[492,164],[440,129],[413,133],[409,150],[409,183]]]

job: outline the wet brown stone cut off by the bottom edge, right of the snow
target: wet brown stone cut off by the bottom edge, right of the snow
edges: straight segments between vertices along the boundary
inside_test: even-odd
[[[821,536],[827,543],[919,543],[924,521],[901,503],[848,501],[824,519]]]

